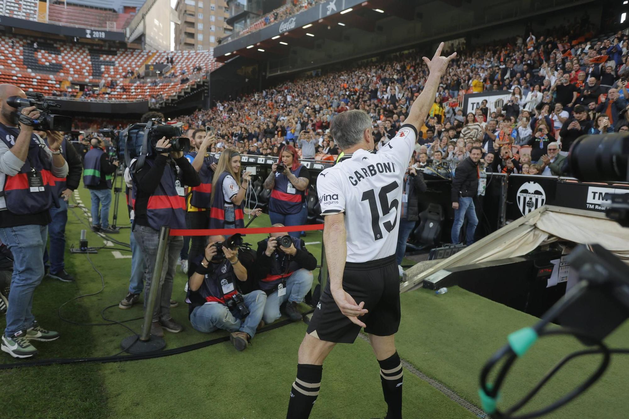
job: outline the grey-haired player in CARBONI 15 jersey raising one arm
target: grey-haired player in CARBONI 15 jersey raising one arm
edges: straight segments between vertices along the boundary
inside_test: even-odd
[[[323,360],[337,343],[353,343],[361,327],[380,364],[386,418],[402,417],[402,366],[394,341],[400,319],[395,260],[399,207],[417,131],[448,62],[456,56],[441,57],[442,48],[443,43],[432,60],[423,57],[430,70],[424,90],[397,135],[377,154],[367,113],[346,111],[331,122],[331,135],[343,157],[317,178],[330,281],[299,347],[288,419],[308,418],[319,394]]]

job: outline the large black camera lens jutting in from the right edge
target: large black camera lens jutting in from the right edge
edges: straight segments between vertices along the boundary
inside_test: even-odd
[[[629,135],[584,135],[572,143],[568,159],[574,177],[584,181],[626,182]]]

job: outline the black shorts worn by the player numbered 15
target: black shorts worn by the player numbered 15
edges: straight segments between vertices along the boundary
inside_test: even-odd
[[[398,332],[399,271],[395,255],[369,262],[346,262],[343,289],[356,304],[365,301],[369,313],[359,317],[367,325],[365,332],[376,336]],[[330,293],[328,281],[306,333],[327,342],[352,344],[359,332],[360,326],[341,313]]]

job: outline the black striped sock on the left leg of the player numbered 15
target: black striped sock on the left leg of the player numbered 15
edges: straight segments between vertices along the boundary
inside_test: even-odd
[[[307,419],[319,395],[323,366],[297,364],[297,378],[292,383],[286,419]]]

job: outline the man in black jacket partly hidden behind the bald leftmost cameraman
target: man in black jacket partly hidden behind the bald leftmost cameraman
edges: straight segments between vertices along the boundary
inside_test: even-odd
[[[46,131],[35,131],[42,140],[48,143]],[[55,178],[55,194],[57,195],[59,208],[55,205],[48,210],[50,213],[50,224],[48,224],[48,235],[50,235],[50,252],[44,249],[43,263],[48,271],[48,276],[63,282],[72,282],[74,277],[65,271],[65,224],[68,222],[68,204],[72,196],[72,191],[79,187],[81,174],[83,173],[83,162],[81,155],[70,145],[70,141],[64,138],[62,142],[62,154],[68,162],[68,174],[65,178]],[[48,264],[50,262],[50,264]]]

